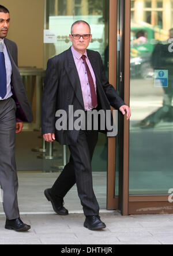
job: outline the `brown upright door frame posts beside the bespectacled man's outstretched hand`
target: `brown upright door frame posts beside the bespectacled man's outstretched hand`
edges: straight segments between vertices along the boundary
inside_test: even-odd
[[[123,2],[124,24],[123,40],[125,47],[123,61],[123,80],[124,92],[123,98],[127,105],[130,104],[130,0]],[[117,0],[110,0],[110,31],[109,31],[109,81],[116,89],[116,49],[117,49]],[[113,36],[115,35],[115,36]],[[115,196],[115,162],[116,162],[116,138],[108,138],[108,175],[107,175],[107,209],[116,210],[121,208],[121,213],[129,213],[129,121],[126,117],[123,121],[123,173],[121,190],[119,196]],[[121,198],[121,203],[119,201]]]

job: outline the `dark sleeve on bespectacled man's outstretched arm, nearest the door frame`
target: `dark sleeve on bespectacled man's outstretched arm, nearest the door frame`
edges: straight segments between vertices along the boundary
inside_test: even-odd
[[[105,70],[104,70],[104,66],[103,66],[103,62],[101,60],[100,54],[99,54],[99,62],[100,62],[101,84],[103,86],[104,92],[107,96],[108,101],[110,102],[110,105],[112,107],[114,107],[115,109],[119,110],[119,108],[121,106],[126,105],[126,104],[122,100],[122,98],[119,97],[115,88],[109,83],[106,73],[105,73]]]

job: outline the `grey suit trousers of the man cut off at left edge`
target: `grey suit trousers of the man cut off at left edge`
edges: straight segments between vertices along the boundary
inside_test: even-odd
[[[0,101],[0,185],[7,220],[19,217],[18,179],[15,160],[16,103],[13,98]]]

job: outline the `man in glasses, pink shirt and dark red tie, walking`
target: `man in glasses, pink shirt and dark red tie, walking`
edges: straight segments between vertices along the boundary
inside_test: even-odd
[[[130,108],[108,83],[100,54],[86,50],[91,39],[89,24],[77,21],[72,25],[70,35],[72,47],[48,60],[42,101],[42,134],[47,142],[56,139],[61,144],[69,145],[70,149],[70,161],[53,187],[44,191],[46,198],[57,214],[67,215],[63,198],[76,183],[86,216],[84,227],[97,230],[106,228],[99,217],[99,205],[92,185],[91,161],[98,131],[93,127],[91,130],[56,129],[60,117],[56,114],[57,110],[67,113],[68,124],[76,110],[83,110],[87,116],[87,112],[93,109],[106,112],[110,110],[110,105],[123,114],[127,113],[128,120],[130,118]],[[73,106],[73,113],[70,111],[69,114],[69,106]],[[74,115],[74,123],[76,120]]]

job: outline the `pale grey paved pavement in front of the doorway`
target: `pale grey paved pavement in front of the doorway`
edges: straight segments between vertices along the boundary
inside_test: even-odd
[[[0,215],[0,244],[173,244],[173,214],[121,216],[118,212],[101,213],[107,228],[89,231],[83,227],[83,214],[22,215],[31,231],[17,233],[4,229]]]

